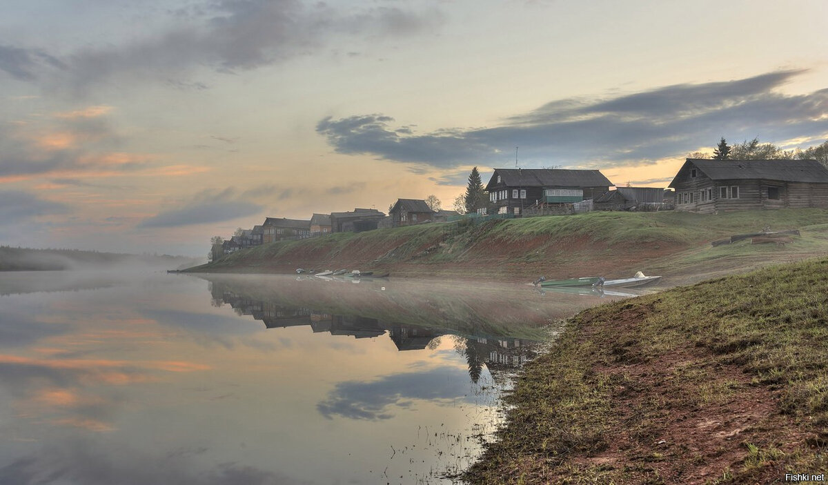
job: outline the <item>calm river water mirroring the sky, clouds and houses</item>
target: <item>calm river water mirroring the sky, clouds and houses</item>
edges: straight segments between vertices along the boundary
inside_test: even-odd
[[[0,483],[452,483],[546,326],[525,285],[0,273]]]

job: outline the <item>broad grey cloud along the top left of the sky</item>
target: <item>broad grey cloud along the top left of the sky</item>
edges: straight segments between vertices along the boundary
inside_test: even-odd
[[[343,39],[412,36],[443,23],[436,10],[335,8],[299,0],[217,0],[176,12],[176,27],[127,45],[84,47],[63,60],[43,50],[5,46],[0,70],[81,94],[108,79],[155,79],[179,89],[205,89],[187,79],[207,66],[234,73],[275,65]],[[48,75],[47,75],[48,74]]]

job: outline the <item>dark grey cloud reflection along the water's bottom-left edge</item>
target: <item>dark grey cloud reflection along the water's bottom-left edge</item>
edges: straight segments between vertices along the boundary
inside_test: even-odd
[[[204,449],[165,456],[152,456],[127,445],[104,448],[86,439],[67,439],[50,444],[36,455],[22,457],[0,468],[0,483],[34,485],[42,483],[84,483],[98,485],[310,485],[283,473],[219,463],[205,469],[200,460]]]

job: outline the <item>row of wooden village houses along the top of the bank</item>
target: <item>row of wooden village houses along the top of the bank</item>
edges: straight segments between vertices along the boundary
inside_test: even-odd
[[[816,207],[828,209],[828,169],[814,160],[686,159],[668,190],[618,187],[600,170],[494,169],[481,215],[527,217],[573,214],[579,210],[623,210],[632,207],[676,209],[711,214],[747,209]],[[328,233],[440,222],[458,218],[450,210],[434,211],[425,200],[397,199],[389,214],[377,209],[313,214],[309,220],[265,218],[213,247],[213,257],[283,239]]]

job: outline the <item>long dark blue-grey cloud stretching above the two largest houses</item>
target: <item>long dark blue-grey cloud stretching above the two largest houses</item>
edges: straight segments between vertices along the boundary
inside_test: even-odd
[[[676,84],[606,99],[568,98],[496,127],[417,133],[381,113],[323,118],[316,131],[338,153],[426,167],[507,166],[519,146],[521,166],[601,168],[652,164],[728,139],[784,141],[828,135],[828,89],[786,95],[777,88],[802,70],[705,84]]]

